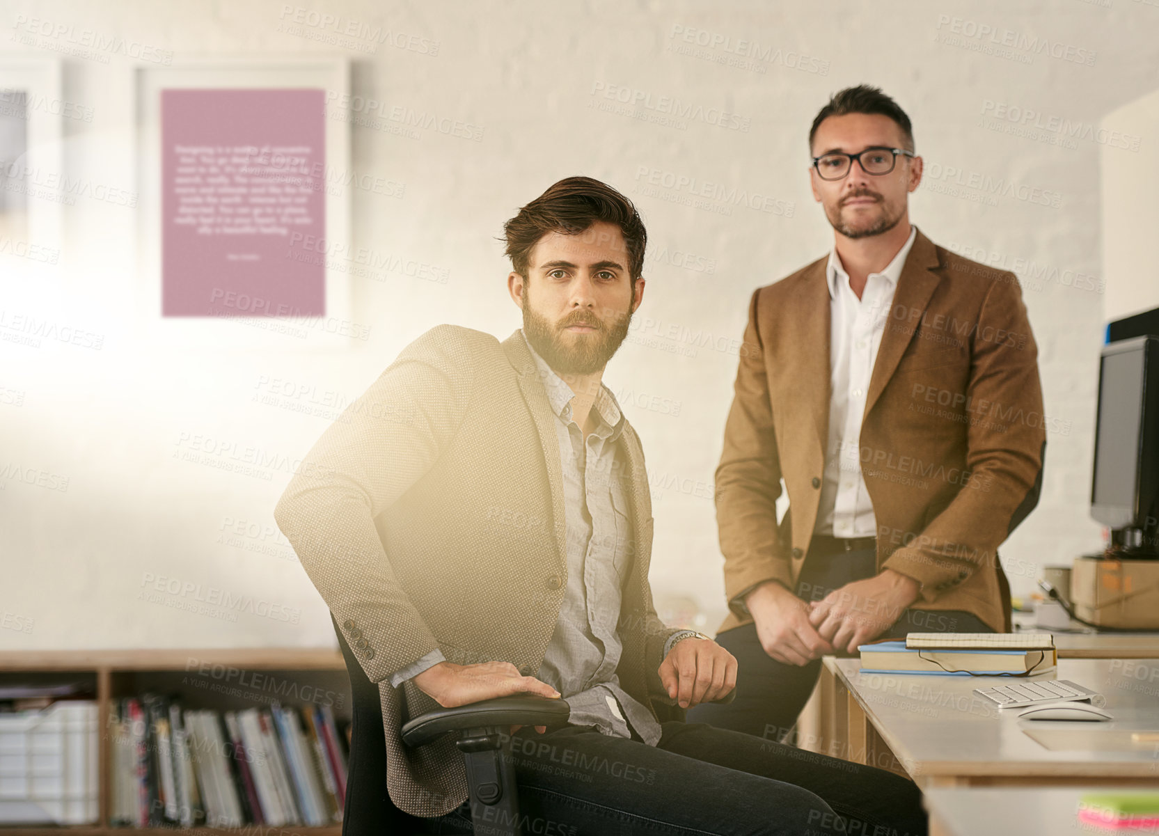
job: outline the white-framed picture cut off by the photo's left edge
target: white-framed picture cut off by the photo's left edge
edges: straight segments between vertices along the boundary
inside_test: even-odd
[[[0,275],[45,276],[60,263],[60,208],[74,199],[63,169],[64,119],[92,108],[61,96],[60,61],[0,58]],[[12,304],[31,293],[6,282]]]

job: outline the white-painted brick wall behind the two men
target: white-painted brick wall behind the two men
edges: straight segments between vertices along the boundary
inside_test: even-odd
[[[389,281],[355,284],[355,318],[374,326],[357,350],[162,352],[143,344],[132,313],[141,292],[136,218],[100,202],[64,208],[58,270],[0,267],[5,307],[105,337],[100,351],[0,342],[0,387],[22,393],[19,405],[0,398],[0,464],[70,480],[66,492],[14,479],[0,486],[8,581],[0,586],[8,627],[0,647],[329,641],[325,606],[292,553],[279,536],[263,537],[289,472],[267,467],[267,480],[199,466],[174,458],[188,449],[178,441],[202,434],[293,459],[327,421],[289,408],[309,395],[254,401],[268,391],[263,379],[353,397],[436,324],[510,334],[519,318],[504,292],[509,268],[495,237],[519,205],[576,173],[637,199],[649,227],[646,300],[605,379],[635,394],[625,407],[655,485],[657,603],[688,618],[699,612],[714,630],[723,601],[709,496],[736,370],[727,343],[741,335],[753,288],[828,248],[831,233],[808,189],[806,137],[829,93],[858,82],[881,85],[914,122],[927,180],[913,196],[913,220],[935,241],[1025,279],[1047,412],[1060,430],[1050,435],[1042,501],[1004,550],[1015,594],[1032,589],[1043,564],[1098,546],[1087,506],[1103,300],[1062,286],[1056,274],[1103,276],[1105,147],[1052,125],[1098,126],[1154,88],[1153,2],[914,0],[879,15],[844,2],[687,0],[553,9],[331,0],[297,8],[293,0],[0,2],[0,30],[8,32],[0,31],[0,58],[60,54],[86,30],[169,50],[174,59],[341,53],[355,63],[356,93],[483,128],[478,143],[437,130],[417,138],[353,131],[355,168],[406,184],[401,198],[353,197],[355,243],[402,260]],[[342,45],[326,43],[333,29],[311,26],[314,12],[336,15],[335,26],[355,34]],[[300,30],[279,31],[296,16]],[[9,37],[34,17],[63,34],[34,44]],[[369,35],[376,28],[388,34],[377,44]],[[65,97],[94,112],[90,123],[65,125],[67,170],[137,188],[133,64],[118,52],[97,54],[108,60],[67,58]],[[618,95],[646,102],[648,118],[605,109]],[[664,97],[694,110],[666,123]],[[1021,115],[1011,121],[1012,109],[1042,115],[1030,123],[1041,125],[1037,137],[1011,132],[1027,128]],[[1144,136],[1139,153],[1153,154],[1157,139]],[[744,190],[751,205],[727,197],[688,205],[687,189],[650,186],[670,177],[726,195]],[[410,272],[446,270],[449,281],[415,278],[407,264]],[[693,350],[665,337],[670,328],[710,334],[726,350]],[[668,408],[641,407],[651,395]],[[232,540],[223,532],[227,519],[243,521]],[[139,597],[156,579],[178,591]],[[300,617],[240,612],[227,620],[178,609],[211,588]]]

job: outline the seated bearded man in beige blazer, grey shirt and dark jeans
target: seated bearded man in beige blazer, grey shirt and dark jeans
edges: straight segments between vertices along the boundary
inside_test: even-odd
[[[925,833],[897,776],[671,719],[727,699],[737,669],[656,616],[643,451],[602,383],[643,298],[643,224],[611,187],[569,177],[505,232],[523,328],[422,335],[275,510],[378,684],[389,799],[462,824],[453,741],[409,749],[400,726],[527,691],[570,706],[567,726],[512,732],[527,833]],[[379,792],[381,776],[351,770],[352,793]]]

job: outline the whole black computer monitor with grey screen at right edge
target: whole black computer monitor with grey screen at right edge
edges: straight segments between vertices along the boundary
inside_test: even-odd
[[[1159,557],[1159,336],[1102,348],[1091,516],[1132,557]]]

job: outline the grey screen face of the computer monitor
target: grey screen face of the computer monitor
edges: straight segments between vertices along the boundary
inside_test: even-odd
[[[1111,528],[1135,522],[1143,416],[1146,343],[1103,349],[1099,372],[1099,417],[1095,436],[1094,518]]]

